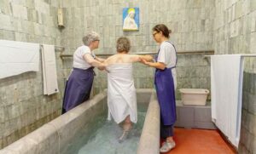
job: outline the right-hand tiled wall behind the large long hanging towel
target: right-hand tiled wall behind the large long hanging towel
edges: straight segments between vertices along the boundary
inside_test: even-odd
[[[215,2],[216,54],[256,54],[256,1]],[[239,153],[256,153],[256,59],[245,58]]]

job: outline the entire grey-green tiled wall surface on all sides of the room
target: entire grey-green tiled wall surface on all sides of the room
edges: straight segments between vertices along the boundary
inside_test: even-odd
[[[73,54],[88,31],[101,35],[96,54],[114,54],[120,36],[131,39],[131,52],[156,52],[151,29],[166,24],[178,51],[215,50],[215,54],[256,52],[254,0],[1,0],[0,39],[62,45]],[[64,10],[64,26],[57,27],[57,8]],[[140,9],[139,31],[122,31],[122,9]],[[0,148],[60,115],[65,78],[72,58],[56,51],[61,93],[43,95],[42,71],[0,80]],[[177,89],[210,88],[209,61],[201,54],[178,54]],[[255,59],[245,62],[240,153],[256,151]],[[96,70],[94,94],[107,88],[106,72]],[[134,65],[137,88],[153,88],[154,70]],[[177,98],[179,94],[177,93]]]

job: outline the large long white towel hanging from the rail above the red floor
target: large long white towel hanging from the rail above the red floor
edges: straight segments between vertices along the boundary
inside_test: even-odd
[[[238,147],[241,128],[243,58],[211,56],[212,122]]]

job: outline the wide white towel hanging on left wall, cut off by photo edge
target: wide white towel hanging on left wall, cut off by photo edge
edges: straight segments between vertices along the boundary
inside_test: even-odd
[[[39,71],[39,44],[0,40],[0,78]]]

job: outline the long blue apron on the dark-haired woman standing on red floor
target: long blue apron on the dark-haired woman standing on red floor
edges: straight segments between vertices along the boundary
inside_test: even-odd
[[[159,52],[160,49],[158,54]],[[155,56],[155,61],[157,61],[158,54]],[[176,121],[176,100],[172,77],[174,67],[165,68],[165,70],[156,69],[154,72],[154,85],[160,104],[160,121],[163,125],[173,125]]]

